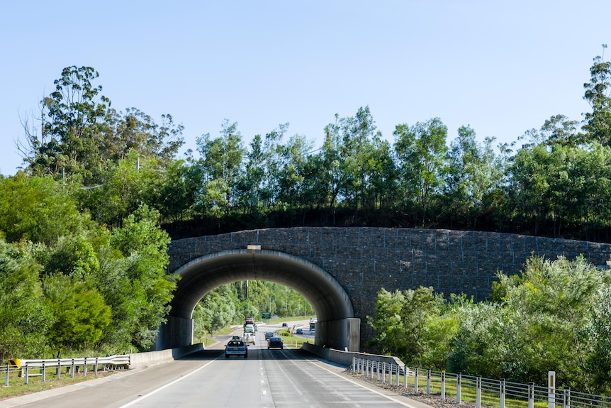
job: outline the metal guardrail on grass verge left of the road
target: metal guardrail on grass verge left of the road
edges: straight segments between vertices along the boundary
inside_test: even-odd
[[[45,382],[48,377],[62,377],[62,370],[66,375],[74,377],[76,373],[87,375],[98,371],[113,371],[129,368],[130,355],[109,355],[108,357],[85,358],[56,358],[48,360],[11,360],[0,367],[0,375],[4,376],[4,385],[9,386],[12,381],[23,381],[28,384],[31,377],[41,377]],[[17,380],[18,379],[18,380]]]

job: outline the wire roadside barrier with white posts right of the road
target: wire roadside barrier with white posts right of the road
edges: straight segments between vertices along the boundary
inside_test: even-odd
[[[549,408],[611,408],[611,397],[576,392],[568,387],[556,390],[554,372],[550,372],[549,385],[542,387],[534,385],[533,382],[520,384],[483,378],[481,375],[419,370],[405,365],[355,357],[352,359],[352,373],[396,387],[413,387],[415,393],[425,391],[427,395],[431,395],[435,392],[442,400],[453,397],[456,404],[463,402],[463,391],[469,392],[470,395],[475,394],[476,408],[481,408],[482,402],[485,402],[486,406],[499,408],[510,405],[534,408],[537,402],[539,406],[546,402]]]

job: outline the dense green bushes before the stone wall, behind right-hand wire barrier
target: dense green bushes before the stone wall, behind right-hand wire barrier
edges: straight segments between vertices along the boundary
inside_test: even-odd
[[[520,277],[498,274],[494,302],[450,302],[430,288],[381,290],[373,346],[410,365],[610,392],[611,272],[580,256],[533,257]]]

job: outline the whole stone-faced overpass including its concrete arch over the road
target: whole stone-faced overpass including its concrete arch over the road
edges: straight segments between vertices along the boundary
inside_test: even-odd
[[[315,343],[359,351],[371,336],[376,294],[432,286],[476,301],[498,270],[520,272],[531,255],[578,255],[607,268],[605,243],[508,233],[413,228],[270,228],[172,241],[168,272],[181,275],[155,348],[192,343],[191,315],[215,287],[240,280],[278,282],[303,294],[318,316]]]

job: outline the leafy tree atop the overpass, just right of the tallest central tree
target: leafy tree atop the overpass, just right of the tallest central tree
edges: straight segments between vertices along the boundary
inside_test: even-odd
[[[424,225],[432,195],[440,192],[444,183],[447,126],[432,118],[411,127],[397,125],[393,135],[403,199],[405,204],[420,204]]]

